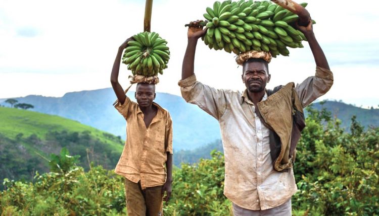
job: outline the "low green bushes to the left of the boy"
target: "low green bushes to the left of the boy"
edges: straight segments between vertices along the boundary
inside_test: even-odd
[[[125,215],[123,178],[101,166],[84,172],[35,176],[35,183],[4,180],[1,215]]]

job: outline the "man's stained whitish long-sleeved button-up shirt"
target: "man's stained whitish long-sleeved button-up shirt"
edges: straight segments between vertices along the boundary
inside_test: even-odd
[[[316,75],[296,86],[302,106],[325,94],[333,85],[330,70],[317,67]],[[297,190],[294,172],[277,172],[270,156],[269,129],[244,93],[217,90],[196,81],[179,81],[183,98],[198,105],[220,123],[225,155],[224,194],[247,209],[269,209],[285,203]],[[266,100],[267,95],[262,100]]]

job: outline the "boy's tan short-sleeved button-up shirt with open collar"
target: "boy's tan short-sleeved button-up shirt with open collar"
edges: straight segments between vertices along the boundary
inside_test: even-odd
[[[172,121],[167,110],[158,107],[157,115],[146,128],[144,113],[137,103],[126,97],[115,108],[127,121],[126,141],[115,172],[141,187],[154,187],[166,182],[167,152],[172,154]]]

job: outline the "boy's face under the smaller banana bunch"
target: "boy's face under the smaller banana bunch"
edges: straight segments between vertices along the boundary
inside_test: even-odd
[[[149,107],[155,99],[155,85],[139,83],[135,90],[135,99],[139,107]]]

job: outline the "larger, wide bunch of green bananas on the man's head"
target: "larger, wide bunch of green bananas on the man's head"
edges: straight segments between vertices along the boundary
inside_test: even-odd
[[[307,3],[300,5],[306,7]],[[298,15],[270,1],[217,1],[213,9],[207,8],[204,18],[208,30],[202,40],[210,49],[235,54],[256,50],[270,52],[273,57],[288,56],[287,47],[303,47],[301,41],[307,40],[294,28]]]

